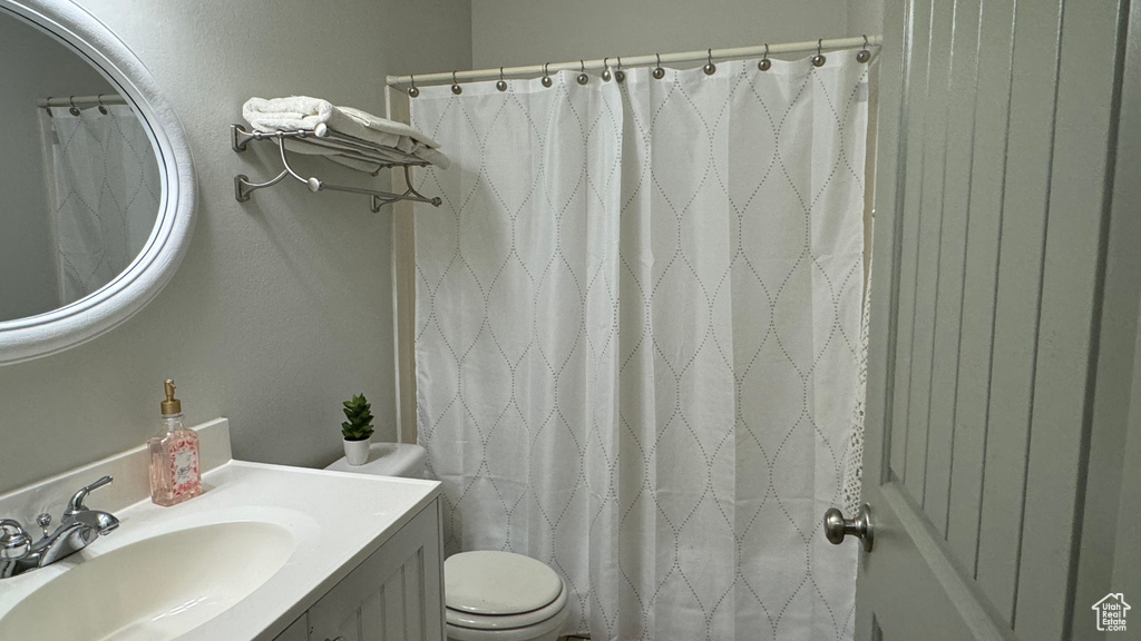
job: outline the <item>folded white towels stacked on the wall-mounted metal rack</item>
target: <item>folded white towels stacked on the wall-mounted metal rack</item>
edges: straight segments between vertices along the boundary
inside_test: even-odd
[[[310,98],[308,96],[290,96],[288,98],[273,98],[269,100],[250,98],[242,106],[242,115],[257,131],[291,131],[298,129],[314,131],[318,124],[324,124],[343,136],[398,149],[430,162],[440,169],[447,169],[451,164],[447,156],[438,149],[438,143],[407,124],[351,107],[338,107],[329,100],[319,98]],[[337,140],[333,138],[326,138],[323,141],[325,144],[337,144]],[[298,153],[330,155],[331,160],[361,171],[372,172],[377,169],[375,163],[332,155],[338,153],[335,149],[325,149],[304,143],[290,144],[288,140],[286,146]],[[345,146],[345,148],[348,147],[348,145]],[[395,159],[396,156],[394,156]]]

